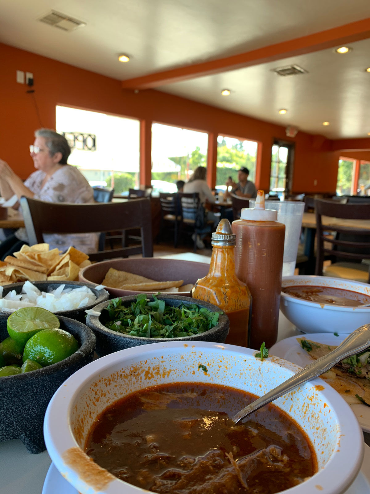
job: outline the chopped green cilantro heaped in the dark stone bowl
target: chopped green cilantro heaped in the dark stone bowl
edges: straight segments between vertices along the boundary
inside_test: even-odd
[[[172,307],[155,295],[153,299],[149,302],[148,295],[140,293],[126,306],[121,298],[113,298],[102,314],[106,328],[130,336],[180,338],[208,331],[222,314],[191,303]]]

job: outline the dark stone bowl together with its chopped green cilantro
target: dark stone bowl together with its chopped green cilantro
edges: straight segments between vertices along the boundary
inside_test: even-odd
[[[86,324],[97,338],[96,352],[109,353],[158,341],[223,343],[229,320],[216,305],[180,295],[141,293],[113,298],[89,311]]]

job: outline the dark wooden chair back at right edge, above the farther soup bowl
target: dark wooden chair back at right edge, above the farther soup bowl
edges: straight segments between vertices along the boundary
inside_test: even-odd
[[[323,226],[322,223],[322,216],[349,220],[370,220],[370,205],[340,204],[336,201],[315,199],[315,214],[317,232],[316,275],[323,274],[325,253],[330,253],[336,258],[352,259],[357,262],[361,262],[362,259],[370,259],[370,230],[351,226],[336,226],[335,224]],[[324,231],[334,232],[334,238],[324,236]],[[332,244],[333,248],[326,248],[324,241]],[[370,272],[368,283],[370,283]]]

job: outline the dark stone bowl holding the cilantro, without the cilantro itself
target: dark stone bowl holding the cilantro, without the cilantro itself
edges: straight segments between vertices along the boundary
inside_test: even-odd
[[[148,295],[148,298],[150,296]],[[196,304],[199,307],[205,307],[211,312],[221,312],[216,305],[201,300],[195,300],[189,297],[182,297],[180,295],[162,294],[157,296],[158,299],[164,300],[166,305],[178,307],[182,304]],[[136,300],[136,296],[122,297],[122,301],[125,305],[130,305]],[[151,297],[151,300],[154,300]],[[204,333],[195,334],[194,336],[184,336],[181,338],[145,338],[142,336],[131,336],[128,334],[121,334],[117,331],[112,331],[104,326],[104,323],[108,321],[108,312],[103,311],[108,306],[109,302],[103,302],[94,307],[94,311],[101,313],[98,315],[89,314],[86,318],[86,324],[91,328],[96,335],[96,353],[99,357],[108,355],[109,353],[116,352],[118,350],[124,350],[125,348],[131,348],[133,346],[147,345],[148,343],[157,343],[158,341],[213,341],[215,343],[223,343],[226,339],[229,330],[229,319],[224,314],[219,316],[218,324]],[[103,312],[102,312],[103,311]]]

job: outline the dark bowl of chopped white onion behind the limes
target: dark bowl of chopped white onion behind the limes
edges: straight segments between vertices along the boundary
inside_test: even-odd
[[[0,287],[0,313],[10,314],[21,307],[43,307],[57,316],[85,322],[85,310],[108,300],[103,287],[78,281],[13,283]]]

